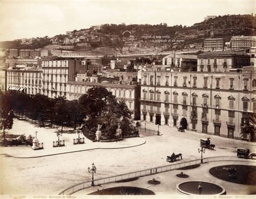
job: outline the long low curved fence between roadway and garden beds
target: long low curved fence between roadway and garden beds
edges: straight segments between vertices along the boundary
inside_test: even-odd
[[[240,158],[237,158],[236,156],[204,158],[203,161],[204,162],[217,162],[217,161],[247,161],[247,162],[251,162],[248,159],[240,159]],[[253,162],[255,162],[255,161],[253,161]],[[140,170],[138,172],[132,172],[132,173],[127,173],[127,174],[97,179],[94,181],[94,184],[95,184],[95,186],[98,186],[100,184],[107,184],[107,183],[117,182],[120,180],[127,180],[127,179],[131,179],[134,177],[142,177],[142,176],[152,175],[152,174],[161,173],[161,172],[168,172],[170,170],[175,170],[175,169],[183,168],[186,166],[199,165],[200,163],[201,163],[201,159],[198,159],[198,160],[191,160],[191,161],[181,162],[181,163],[167,165],[167,166],[150,168],[150,169],[146,169],[146,170]],[[61,193],[59,193],[59,195],[71,195],[79,190],[89,188],[89,187],[91,187],[91,181],[83,182],[83,183],[76,184],[72,187],[69,187],[69,188],[63,190]]]

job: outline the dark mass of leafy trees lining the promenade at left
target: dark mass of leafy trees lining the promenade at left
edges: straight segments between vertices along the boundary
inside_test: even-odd
[[[10,130],[13,118],[25,116],[44,127],[57,125],[73,127],[83,126],[83,132],[95,138],[98,124],[105,138],[116,136],[118,125],[123,136],[137,133],[131,123],[131,112],[125,102],[117,102],[115,96],[105,88],[91,88],[79,100],[68,101],[65,97],[48,98],[45,95],[27,95],[17,91],[1,93],[1,127],[3,137],[5,130]]]

